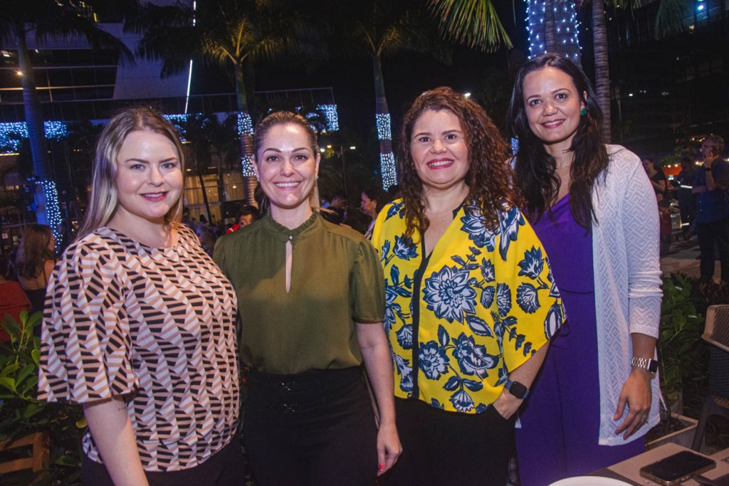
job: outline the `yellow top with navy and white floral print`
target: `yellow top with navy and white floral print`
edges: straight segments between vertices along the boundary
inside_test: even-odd
[[[480,413],[516,369],[564,321],[559,291],[539,238],[518,208],[489,230],[464,203],[430,256],[405,208],[383,208],[373,233],[385,274],[383,325],[395,396],[451,412]]]

